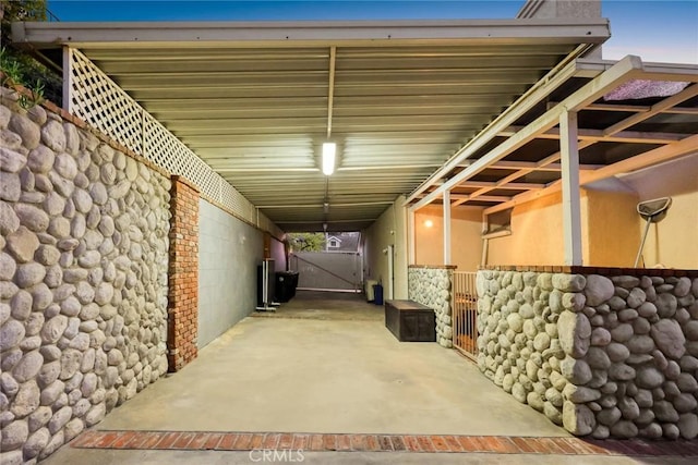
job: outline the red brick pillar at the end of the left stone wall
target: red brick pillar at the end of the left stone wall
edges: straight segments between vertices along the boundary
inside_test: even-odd
[[[173,175],[170,194],[167,360],[172,372],[198,352],[198,189]]]

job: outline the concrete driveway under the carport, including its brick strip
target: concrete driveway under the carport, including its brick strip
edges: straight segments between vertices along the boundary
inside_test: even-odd
[[[484,453],[484,462],[496,463],[580,455],[633,462],[624,456],[633,453],[627,448],[571,438],[456,351],[398,342],[382,307],[357,296],[327,297],[300,293],[276,314],[243,319],[46,463],[253,463],[249,451],[263,449],[304,449],[311,463],[313,456],[356,463],[342,462],[347,452],[359,463],[417,460],[400,451],[422,452],[412,454],[422,461],[413,463],[430,455],[452,463],[454,452]],[[453,463],[464,463],[464,454],[456,455],[461,460]]]

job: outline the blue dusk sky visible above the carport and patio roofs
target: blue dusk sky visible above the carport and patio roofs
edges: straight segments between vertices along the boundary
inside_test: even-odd
[[[61,21],[300,21],[513,19],[525,0],[193,1],[49,0]],[[698,64],[698,0],[603,0],[603,58]]]

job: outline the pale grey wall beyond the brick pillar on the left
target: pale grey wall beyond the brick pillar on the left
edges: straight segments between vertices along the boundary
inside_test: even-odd
[[[256,306],[263,233],[202,199],[198,210],[198,347]]]

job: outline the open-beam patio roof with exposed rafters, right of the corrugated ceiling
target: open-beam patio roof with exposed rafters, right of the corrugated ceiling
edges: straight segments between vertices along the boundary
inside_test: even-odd
[[[509,209],[562,189],[566,147],[578,159],[570,179],[580,186],[698,156],[698,65],[643,63],[634,56],[577,59],[540,84],[407,203],[419,209],[443,203],[448,192],[452,207],[484,207],[485,215]]]

